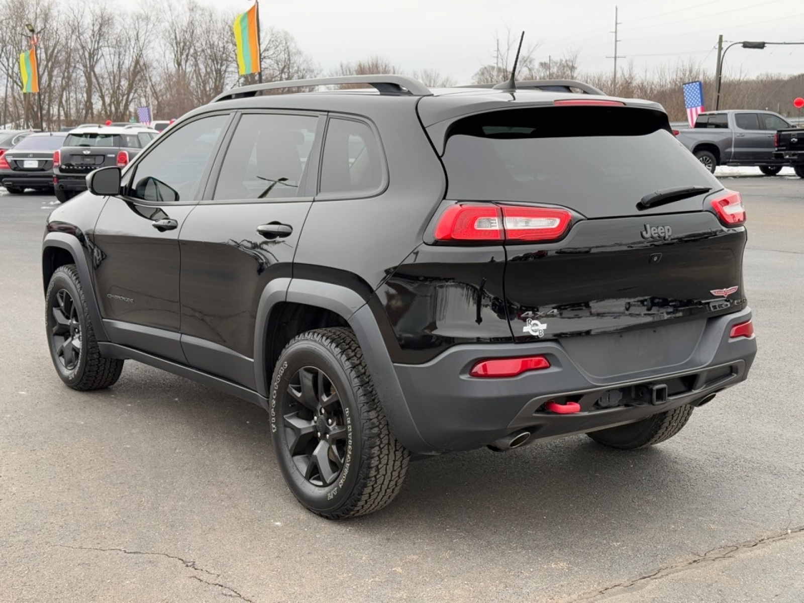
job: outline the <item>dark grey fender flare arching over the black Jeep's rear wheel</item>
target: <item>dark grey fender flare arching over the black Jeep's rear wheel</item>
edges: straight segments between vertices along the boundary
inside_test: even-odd
[[[353,289],[321,281],[281,278],[271,281],[260,296],[254,338],[254,371],[257,392],[270,397],[265,371],[266,335],[271,309],[281,301],[317,306],[338,314],[347,321],[363,351],[375,391],[383,404],[394,437],[413,453],[429,453],[433,446],[421,436],[404,399],[402,386],[394,370],[388,347],[371,308]]]

